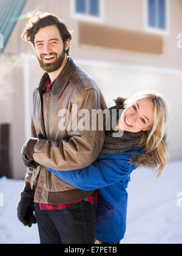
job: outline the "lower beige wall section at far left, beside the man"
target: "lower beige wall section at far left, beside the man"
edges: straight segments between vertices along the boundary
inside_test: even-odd
[[[11,55],[0,56],[0,123],[10,124],[10,175],[22,178],[24,166],[20,158],[24,142],[24,88],[21,57]],[[3,161],[3,159],[1,159]]]

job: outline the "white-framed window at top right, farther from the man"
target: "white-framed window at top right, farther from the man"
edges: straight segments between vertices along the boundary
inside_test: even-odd
[[[154,32],[167,32],[168,30],[168,4],[169,0],[147,1],[147,28]]]

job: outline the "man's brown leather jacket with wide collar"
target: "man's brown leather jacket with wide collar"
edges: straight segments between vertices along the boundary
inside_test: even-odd
[[[90,196],[93,190],[83,191],[72,187],[58,179],[45,166],[58,171],[69,171],[84,168],[96,160],[103,147],[104,129],[80,131],[77,126],[83,121],[83,116],[77,116],[75,124],[72,107],[76,104],[78,111],[89,110],[91,117],[92,109],[104,110],[106,102],[92,77],[78,68],[72,59],[68,60],[50,93],[42,94],[41,88],[47,76],[47,73],[42,76],[39,87],[33,91],[32,137],[36,138],[42,133],[48,140],[38,140],[35,145],[33,158],[40,166],[27,172],[25,189],[28,190],[31,185],[33,190],[39,177],[35,202],[69,204]],[[41,110],[42,103],[44,116]],[[70,112],[70,130],[59,129],[62,109]]]

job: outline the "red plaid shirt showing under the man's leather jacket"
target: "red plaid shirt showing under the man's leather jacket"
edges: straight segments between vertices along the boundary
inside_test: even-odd
[[[55,84],[56,79],[52,83],[50,83],[50,79],[48,79],[47,82],[45,82],[45,84],[42,87],[42,92],[43,93],[49,93],[49,91],[52,89],[53,85]],[[43,104],[42,104],[42,113],[43,112],[44,112],[44,108],[43,108]],[[38,183],[38,179],[36,180],[36,183]],[[96,204],[97,191],[95,191],[95,193],[93,193],[91,196],[87,197],[84,200],[86,200],[86,201],[88,201],[92,204]],[[63,204],[63,205],[51,205],[51,204],[41,204],[41,203],[39,203],[39,207],[40,207],[40,210],[59,210],[59,209],[62,209],[62,208],[69,207],[73,204],[77,204],[78,202],[81,202],[81,201],[82,200],[73,202],[71,204]]]

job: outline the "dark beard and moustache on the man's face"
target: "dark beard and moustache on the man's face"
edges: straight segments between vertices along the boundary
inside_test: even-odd
[[[55,55],[55,61],[52,63],[45,63],[43,56],[46,56],[46,55]],[[65,55],[66,55],[66,49],[63,48],[61,54],[59,55],[59,58],[58,58],[58,54],[56,54],[56,52],[50,52],[50,54],[41,54],[40,58],[38,56],[37,56],[37,58],[38,58],[39,65],[41,66],[41,68],[45,72],[51,73],[51,72],[58,70],[61,67]]]

